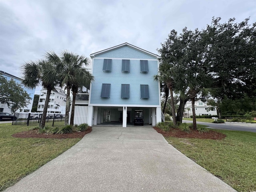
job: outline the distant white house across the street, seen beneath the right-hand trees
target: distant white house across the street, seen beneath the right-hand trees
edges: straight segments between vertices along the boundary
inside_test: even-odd
[[[217,115],[216,107],[212,107],[211,105],[208,105],[207,102],[202,102],[201,100],[198,100],[195,102],[195,111],[196,111],[196,115],[198,116]],[[190,117],[191,115],[192,115],[192,102],[188,101],[186,102],[184,107],[183,117],[187,118],[187,117]]]

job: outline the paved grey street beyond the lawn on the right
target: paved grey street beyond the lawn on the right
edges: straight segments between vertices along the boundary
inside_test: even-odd
[[[193,121],[182,120],[184,123],[192,123]],[[196,122],[197,124],[207,125],[209,128],[220,129],[220,130],[236,130],[236,131],[249,131],[256,132],[256,123],[238,123],[238,122],[225,122],[221,124],[217,123],[205,123]]]

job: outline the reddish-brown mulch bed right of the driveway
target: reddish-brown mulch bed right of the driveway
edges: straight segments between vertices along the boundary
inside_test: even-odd
[[[216,132],[216,131],[209,131],[207,133],[200,133],[197,130],[190,130],[190,133],[186,133],[184,131],[181,131],[179,129],[172,128],[170,131],[165,132],[157,127],[154,127],[154,129],[161,133],[164,137],[178,137],[178,138],[198,138],[198,139],[214,139],[214,140],[220,140],[226,137],[226,135]]]

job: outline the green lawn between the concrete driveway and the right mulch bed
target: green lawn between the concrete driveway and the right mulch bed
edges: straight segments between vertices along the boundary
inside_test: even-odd
[[[256,133],[219,130],[223,140],[173,138],[166,140],[197,164],[239,192],[256,190]]]

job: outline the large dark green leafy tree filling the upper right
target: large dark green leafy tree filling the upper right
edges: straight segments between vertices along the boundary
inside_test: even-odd
[[[173,90],[180,96],[177,121],[182,121],[187,100],[216,97],[255,97],[256,94],[256,23],[249,18],[235,23],[232,18],[221,23],[213,18],[202,30],[188,30],[178,34],[172,30],[158,49],[161,65],[170,68]],[[164,76],[164,74],[160,75]],[[193,111],[193,109],[192,109]]]

